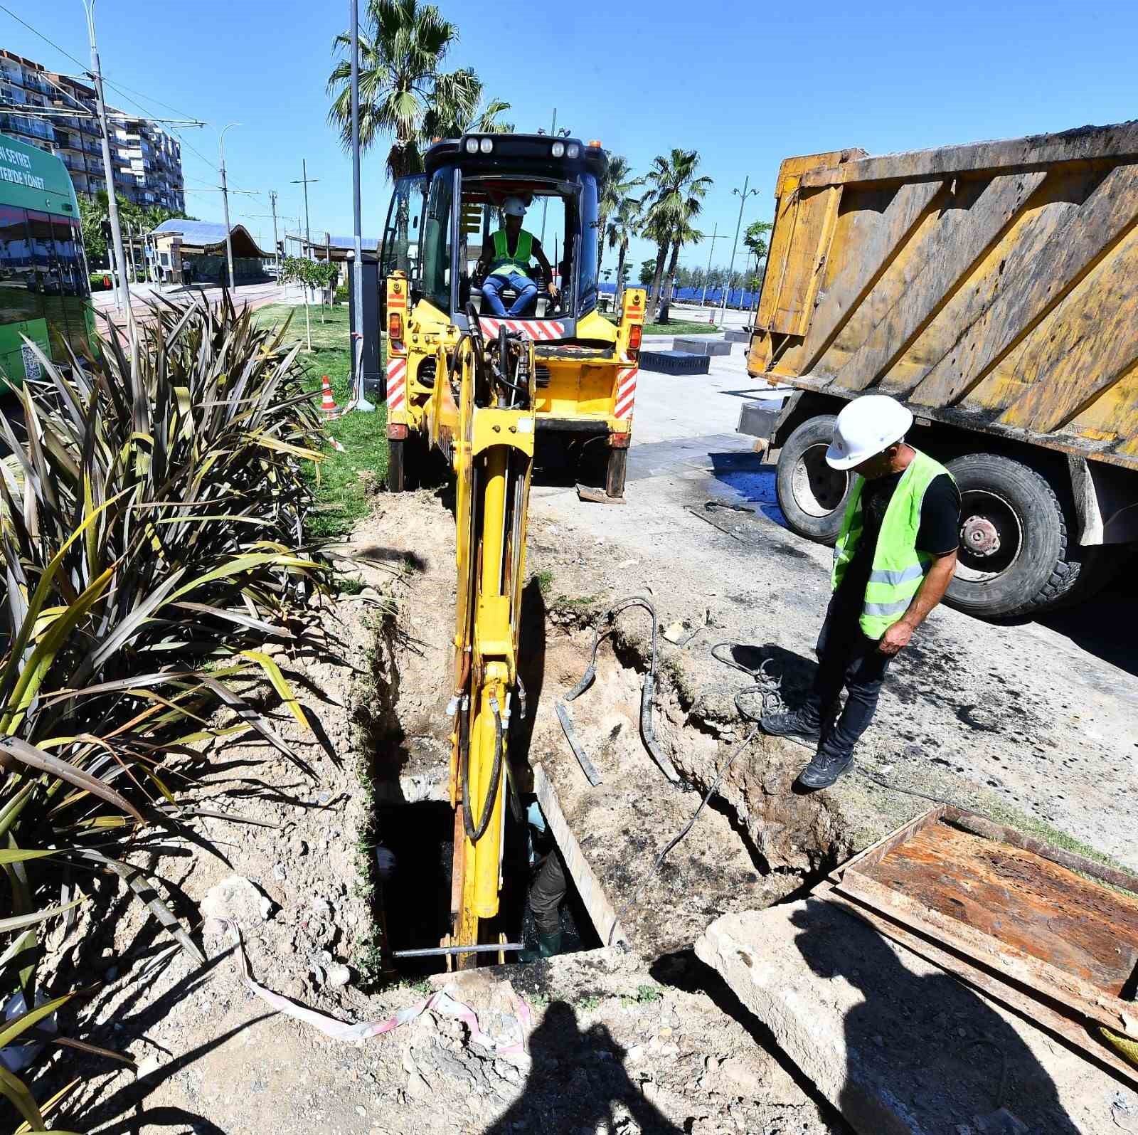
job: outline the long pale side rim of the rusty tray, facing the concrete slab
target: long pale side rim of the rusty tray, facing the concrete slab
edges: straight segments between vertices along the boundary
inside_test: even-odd
[[[1103,993],[1097,986],[988,935],[976,934],[957,919],[930,910],[900,891],[864,875],[848,871],[838,890],[865,903],[873,910],[896,919],[1003,973],[1044,997],[1050,997],[1075,1012],[1116,1033],[1138,1039],[1138,1005]]]

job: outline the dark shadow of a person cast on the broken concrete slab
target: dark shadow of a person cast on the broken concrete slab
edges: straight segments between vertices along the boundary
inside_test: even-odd
[[[978,1128],[1003,1108],[1031,1135],[1079,1135],[1034,1053],[963,982],[941,970],[912,972],[873,927],[830,904],[808,903],[792,921],[810,970],[843,978],[864,997],[843,1021],[847,1068],[836,1101],[859,1130],[883,1122],[879,1101],[888,1099],[922,1129],[1019,1130],[998,1120]]]

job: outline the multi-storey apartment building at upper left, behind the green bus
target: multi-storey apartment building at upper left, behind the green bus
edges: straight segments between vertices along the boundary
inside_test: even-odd
[[[0,133],[58,154],[71,171],[75,192],[86,196],[107,188],[98,123],[82,117],[76,105],[91,106],[93,101],[94,89],[89,83],[0,49],[0,105],[76,112],[39,117],[3,109]],[[116,115],[109,120],[115,189],[139,205],[184,209],[182,148],[178,139],[154,123],[117,117],[123,112],[109,105],[107,110]]]

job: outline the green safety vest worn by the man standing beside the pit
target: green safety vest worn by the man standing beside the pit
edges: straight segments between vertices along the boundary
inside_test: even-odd
[[[873,553],[873,567],[859,620],[861,631],[868,639],[880,639],[908,610],[933,561],[932,556],[918,552],[916,546],[917,531],[921,527],[921,502],[933,478],[948,470],[920,450],[914,450],[913,453],[913,460],[901,475],[885,508],[881,532],[877,534],[877,546]],[[840,586],[861,538],[864,485],[865,478],[855,476],[853,491],[846,505],[842,531],[834,548],[834,591]]]

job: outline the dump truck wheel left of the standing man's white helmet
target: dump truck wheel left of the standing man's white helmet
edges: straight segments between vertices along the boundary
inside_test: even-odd
[[[778,454],[775,495],[791,532],[819,544],[838,543],[851,477],[826,464],[834,414],[819,414],[798,426]]]

